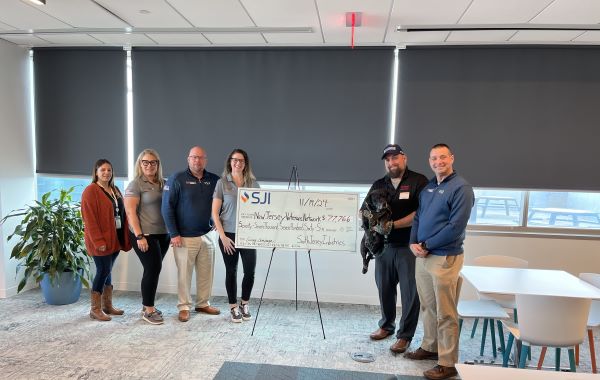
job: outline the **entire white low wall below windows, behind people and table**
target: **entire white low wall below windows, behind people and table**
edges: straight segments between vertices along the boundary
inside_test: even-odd
[[[472,263],[476,256],[489,254],[521,257],[528,260],[532,268],[562,269],[574,275],[580,272],[600,273],[599,240],[468,234],[465,242],[466,265]],[[255,299],[260,297],[270,255],[270,251],[258,251],[256,281],[252,293],[252,297]],[[361,273],[362,261],[358,253],[313,252],[311,255],[320,301],[379,304],[373,278],[373,263],[369,267],[369,272],[363,275]],[[241,263],[238,272],[240,276],[238,284],[241,284]],[[142,267],[133,251],[119,258],[113,273],[115,287],[139,291]],[[219,253],[215,262],[214,295],[226,295],[224,282],[223,259]],[[170,251],[165,257],[159,292],[177,293],[177,270]],[[265,297],[295,298],[293,252],[275,251]],[[298,298],[301,300],[315,299],[306,252],[298,253]],[[467,283],[463,286],[462,298],[475,298],[474,289]]]

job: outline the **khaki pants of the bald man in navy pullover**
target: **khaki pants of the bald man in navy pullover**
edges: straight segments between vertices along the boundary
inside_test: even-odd
[[[177,265],[177,295],[179,302],[177,309],[190,310],[192,308],[192,274],[196,269],[196,305],[205,307],[209,305],[212,293],[214,275],[215,248],[208,235],[198,237],[182,237],[183,246],[173,247],[175,264]]]

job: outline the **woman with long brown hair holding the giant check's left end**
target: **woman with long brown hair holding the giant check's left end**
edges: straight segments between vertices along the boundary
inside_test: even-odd
[[[238,187],[259,187],[256,177],[252,173],[248,154],[242,149],[234,149],[227,157],[225,169],[215,187],[212,204],[212,218],[219,233],[219,247],[225,263],[225,288],[233,322],[251,319],[248,302],[254,285],[256,268],[256,250],[235,247]],[[244,278],[242,279],[242,300],[238,306],[237,267],[240,257],[244,267]]]

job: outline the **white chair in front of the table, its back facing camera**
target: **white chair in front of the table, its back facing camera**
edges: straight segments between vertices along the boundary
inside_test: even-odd
[[[557,296],[517,294],[519,325],[506,323],[510,331],[502,365],[508,365],[514,339],[523,342],[519,367],[525,361],[531,346],[556,348],[555,369],[560,370],[560,349],[568,348],[571,372],[576,371],[574,346],[583,342],[591,300]]]

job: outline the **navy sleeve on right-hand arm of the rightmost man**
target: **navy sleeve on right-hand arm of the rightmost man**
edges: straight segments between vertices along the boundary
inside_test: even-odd
[[[435,235],[425,241],[430,250],[444,247],[456,241],[467,228],[471,216],[471,208],[474,201],[473,188],[471,185],[463,184],[452,194],[450,217],[446,225]],[[413,222],[414,228],[414,222]],[[412,234],[411,234],[412,238]],[[411,239],[412,241],[412,239]]]

